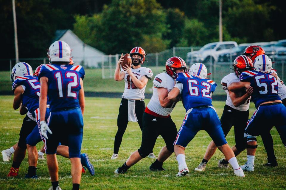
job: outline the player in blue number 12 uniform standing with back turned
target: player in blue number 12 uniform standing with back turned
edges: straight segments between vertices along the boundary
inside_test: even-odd
[[[73,189],[79,189],[82,165],[80,149],[83,139],[84,69],[69,65],[71,48],[64,41],[55,41],[48,51],[51,65],[44,64],[39,73],[41,83],[40,125],[46,138],[46,155],[52,187],[60,189],[56,151],[59,142],[69,146]],[[49,122],[46,124],[47,96],[50,102]]]

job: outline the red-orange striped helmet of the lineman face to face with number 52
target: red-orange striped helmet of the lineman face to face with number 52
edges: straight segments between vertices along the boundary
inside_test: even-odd
[[[253,63],[249,57],[242,55],[234,59],[233,67],[235,74],[239,76],[243,71],[253,69]]]

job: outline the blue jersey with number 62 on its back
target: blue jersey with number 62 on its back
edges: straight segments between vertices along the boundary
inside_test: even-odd
[[[200,79],[187,73],[178,73],[175,87],[182,84],[181,97],[187,110],[199,106],[212,106],[212,93],[217,84],[209,79]]]

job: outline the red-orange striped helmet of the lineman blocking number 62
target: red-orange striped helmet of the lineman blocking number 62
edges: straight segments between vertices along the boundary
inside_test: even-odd
[[[180,57],[171,57],[166,62],[166,72],[170,75],[173,79],[176,78],[176,70],[177,69],[184,69],[184,72],[187,70],[187,65],[184,59]]]

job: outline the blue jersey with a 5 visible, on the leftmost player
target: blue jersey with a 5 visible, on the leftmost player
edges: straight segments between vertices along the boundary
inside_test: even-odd
[[[40,83],[38,81],[38,77],[35,76],[24,76],[24,77],[16,77],[12,90],[14,92],[17,86],[22,86],[24,89],[24,93],[22,95],[22,104],[27,107],[30,113],[34,113],[34,111],[39,107],[39,96],[40,96]]]

